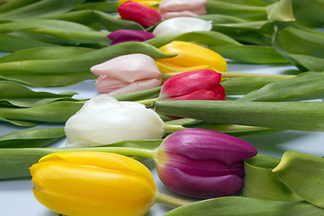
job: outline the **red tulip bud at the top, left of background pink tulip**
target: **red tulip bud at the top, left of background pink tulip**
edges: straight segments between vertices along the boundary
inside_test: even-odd
[[[125,2],[118,8],[121,19],[139,23],[144,28],[148,28],[162,20],[161,15],[154,9],[136,2]]]

